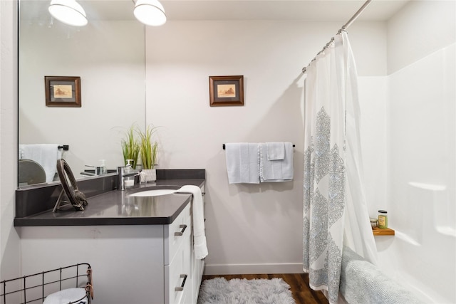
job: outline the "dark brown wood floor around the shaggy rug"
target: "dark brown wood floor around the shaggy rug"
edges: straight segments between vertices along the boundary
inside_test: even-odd
[[[211,278],[282,278],[290,285],[291,293],[296,304],[328,304],[328,300],[321,291],[312,290],[309,287],[309,275],[307,273],[284,273],[284,274],[244,274],[244,275],[223,275],[223,276],[203,276],[202,279],[209,280]],[[235,304],[235,303],[227,303]]]

